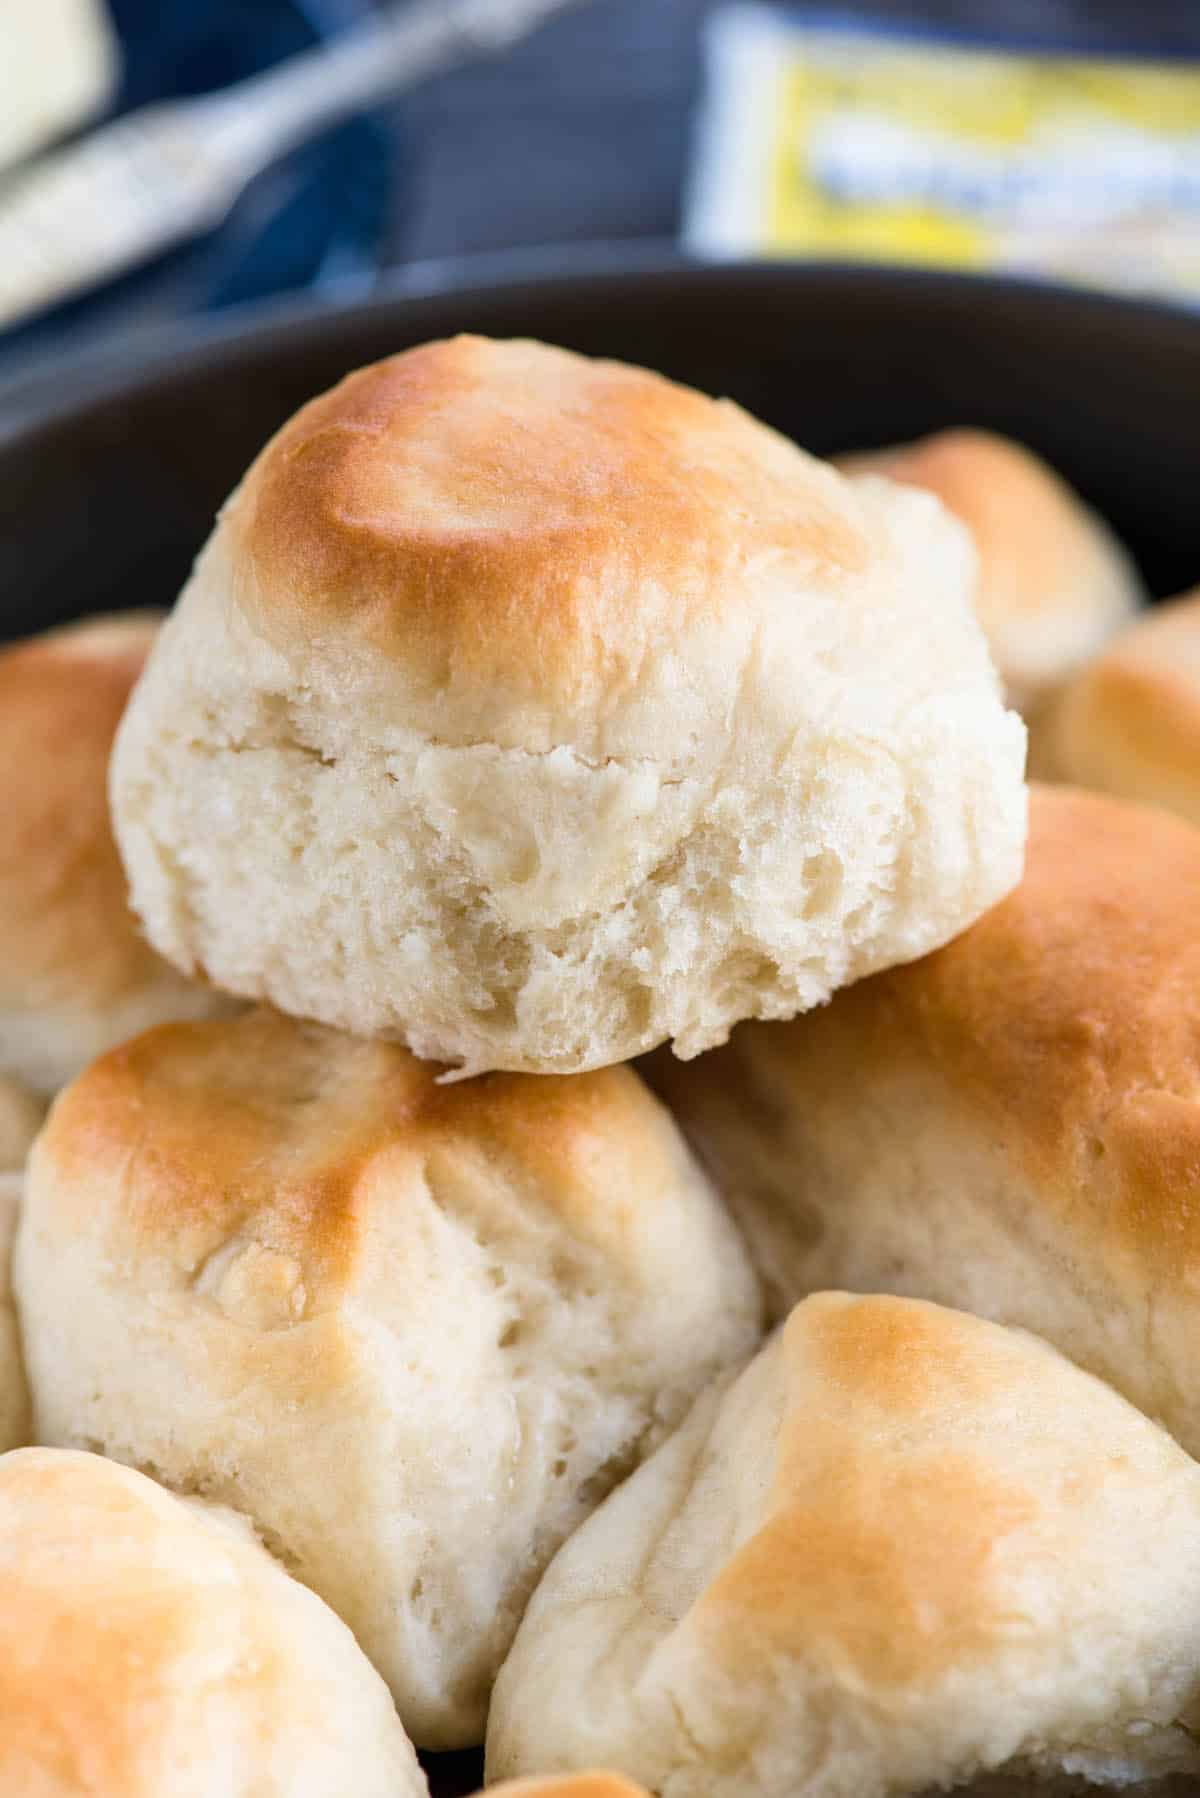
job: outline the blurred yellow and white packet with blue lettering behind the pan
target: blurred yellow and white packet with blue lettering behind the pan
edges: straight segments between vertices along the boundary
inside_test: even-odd
[[[1011,50],[729,5],[684,241],[1200,300],[1200,63]]]

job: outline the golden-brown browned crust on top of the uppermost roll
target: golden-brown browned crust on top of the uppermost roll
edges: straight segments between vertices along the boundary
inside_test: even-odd
[[[763,559],[837,581],[876,554],[837,475],[729,401],[473,336],[302,406],[221,530],[263,636],[372,651],[410,728],[680,762],[651,719],[622,741],[664,651],[707,622],[739,638]]]

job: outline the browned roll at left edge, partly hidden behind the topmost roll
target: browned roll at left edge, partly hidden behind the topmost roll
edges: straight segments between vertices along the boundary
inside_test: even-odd
[[[142,940],[108,818],[108,755],[157,613],[0,649],[0,1075],[52,1093],[135,1030],[212,1010]]]

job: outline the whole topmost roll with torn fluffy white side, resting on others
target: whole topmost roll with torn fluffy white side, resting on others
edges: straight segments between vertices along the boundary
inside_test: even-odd
[[[1018,877],[1024,732],[928,496],[457,338],[306,406],[121,730],[155,946],[464,1072],[790,1016]]]

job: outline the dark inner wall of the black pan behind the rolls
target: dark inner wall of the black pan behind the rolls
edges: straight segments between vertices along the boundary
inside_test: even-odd
[[[820,453],[952,423],[1009,432],[1112,518],[1157,593],[1200,581],[1200,316],[1015,282],[669,263],[268,316],[0,394],[0,635],[169,602],[302,399],[453,331],[649,363]]]

